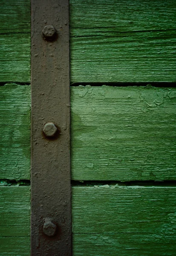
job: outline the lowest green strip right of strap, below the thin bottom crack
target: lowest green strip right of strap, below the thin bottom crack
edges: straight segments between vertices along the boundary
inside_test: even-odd
[[[157,238],[158,236],[158,238]],[[174,256],[175,239],[146,234],[75,234],[73,256]]]

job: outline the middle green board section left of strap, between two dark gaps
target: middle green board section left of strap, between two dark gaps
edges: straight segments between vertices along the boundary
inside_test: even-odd
[[[0,179],[30,178],[30,86],[0,87]]]

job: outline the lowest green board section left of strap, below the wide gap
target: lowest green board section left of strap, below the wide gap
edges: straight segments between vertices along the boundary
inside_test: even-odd
[[[0,186],[0,255],[30,255],[29,186]]]

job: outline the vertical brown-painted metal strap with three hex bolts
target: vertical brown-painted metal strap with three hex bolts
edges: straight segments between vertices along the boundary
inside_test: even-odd
[[[31,255],[69,256],[69,0],[31,4]]]

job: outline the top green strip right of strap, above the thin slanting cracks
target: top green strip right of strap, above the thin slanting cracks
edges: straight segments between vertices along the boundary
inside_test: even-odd
[[[90,32],[97,35],[100,29],[106,32],[176,29],[175,0],[70,0],[69,3],[74,36],[92,35]]]

